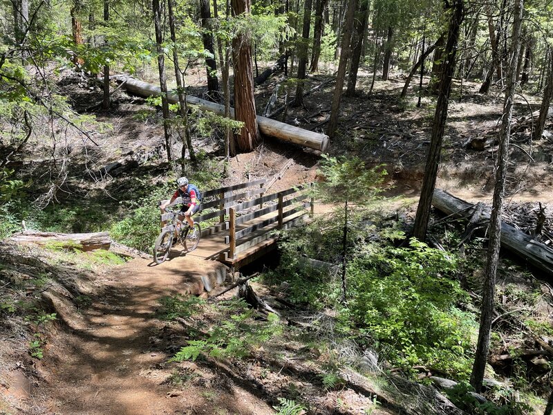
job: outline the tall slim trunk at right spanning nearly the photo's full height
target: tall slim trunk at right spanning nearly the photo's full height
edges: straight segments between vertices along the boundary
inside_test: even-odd
[[[494,315],[494,296],[496,293],[496,273],[499,259],[501,212],[503,210],[503,196],[505,193],[505,178],[507,176],[507,158],[509,138],[511,134],[511,120],[513,116],[513,100],[516,90],[516,62],[521,39],[521,20],[523,0],[514,3],[513,36],[510,50],[509,77],[505,90],[505,104],[500,129],[500,144],[496,158],[496,185],[494,186],[494,202],[489,219],[489,245],[482,287],[482,305],[480,312],[480,329],[478,330],[478,344],[472,367],[471,385],[479,393],[482,390],[482,380],[489,351],[491,320]]]

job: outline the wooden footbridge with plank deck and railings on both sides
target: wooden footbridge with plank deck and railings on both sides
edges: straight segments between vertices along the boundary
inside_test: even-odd
[[[278,231],[303,223],[314,205],[306,186],[267,194],[270,185],[261,179],[202,192],[202,212],[194,217],[202,239],[186,255],[236,269],[274,250]]]

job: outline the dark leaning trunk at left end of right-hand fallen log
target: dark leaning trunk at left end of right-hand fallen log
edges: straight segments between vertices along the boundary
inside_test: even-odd
[[[444,127],[447,120],[449,94],[451,93],[451,80],[453,78],[453,71],[455,70],[457,42],[463,19],[463,1],[454,0],[451,3],[451,8],[451,20],[449,21],[447,43],[444,50],[444,55],[447,57],[447,60],[443,67],[442,80],[440,80],[440,93],[438,94],[438,102],[436,102],[430,149],[427,157],[427,165],[424,168],[424,178],[422,180],[417,215],[415,216],[415,223],[413,225],[413,236],[420,241],[424,241],[427,237],[432,194],[434,192],[436,177],[438,176],[438,165],[440,165],[442,138],[444,136]]]

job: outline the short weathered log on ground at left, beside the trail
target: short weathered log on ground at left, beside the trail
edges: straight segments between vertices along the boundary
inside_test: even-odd
[[[108,250],[111,245],[111,238],[108,232],[93,232],[85,234],[62,234],[56,232],[34,232],[26,230],[25,232],[12,235],[8,239],[15,243],[37,243],[39,245],[51,245],[77,248],[79,250]]]

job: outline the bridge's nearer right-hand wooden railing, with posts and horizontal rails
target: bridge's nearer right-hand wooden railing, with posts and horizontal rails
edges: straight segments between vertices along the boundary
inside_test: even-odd
[[[274,230],[290,228],[306,219],[306,210],[313,213],[313,200],[309,199],[305,192],[306,186],[296,187],[274,194],[260,196],[251,201],[238,203],[229,208],[229,235],[225,237],[225,243],[229,249],[225,259],[236,259],[237,255],[253,246],[263,244],[272,237]],[[308,199],[306,201],[306,199]],[[263,204],[271,203],[263,208]],[[245,210],[260,205],[259,210],[240,214]],[[247,222],[266,216],[261,221],[251,225]],[[240,228],[240,225],[246,227]],[[276,225],[275,225],[276,224]]]

